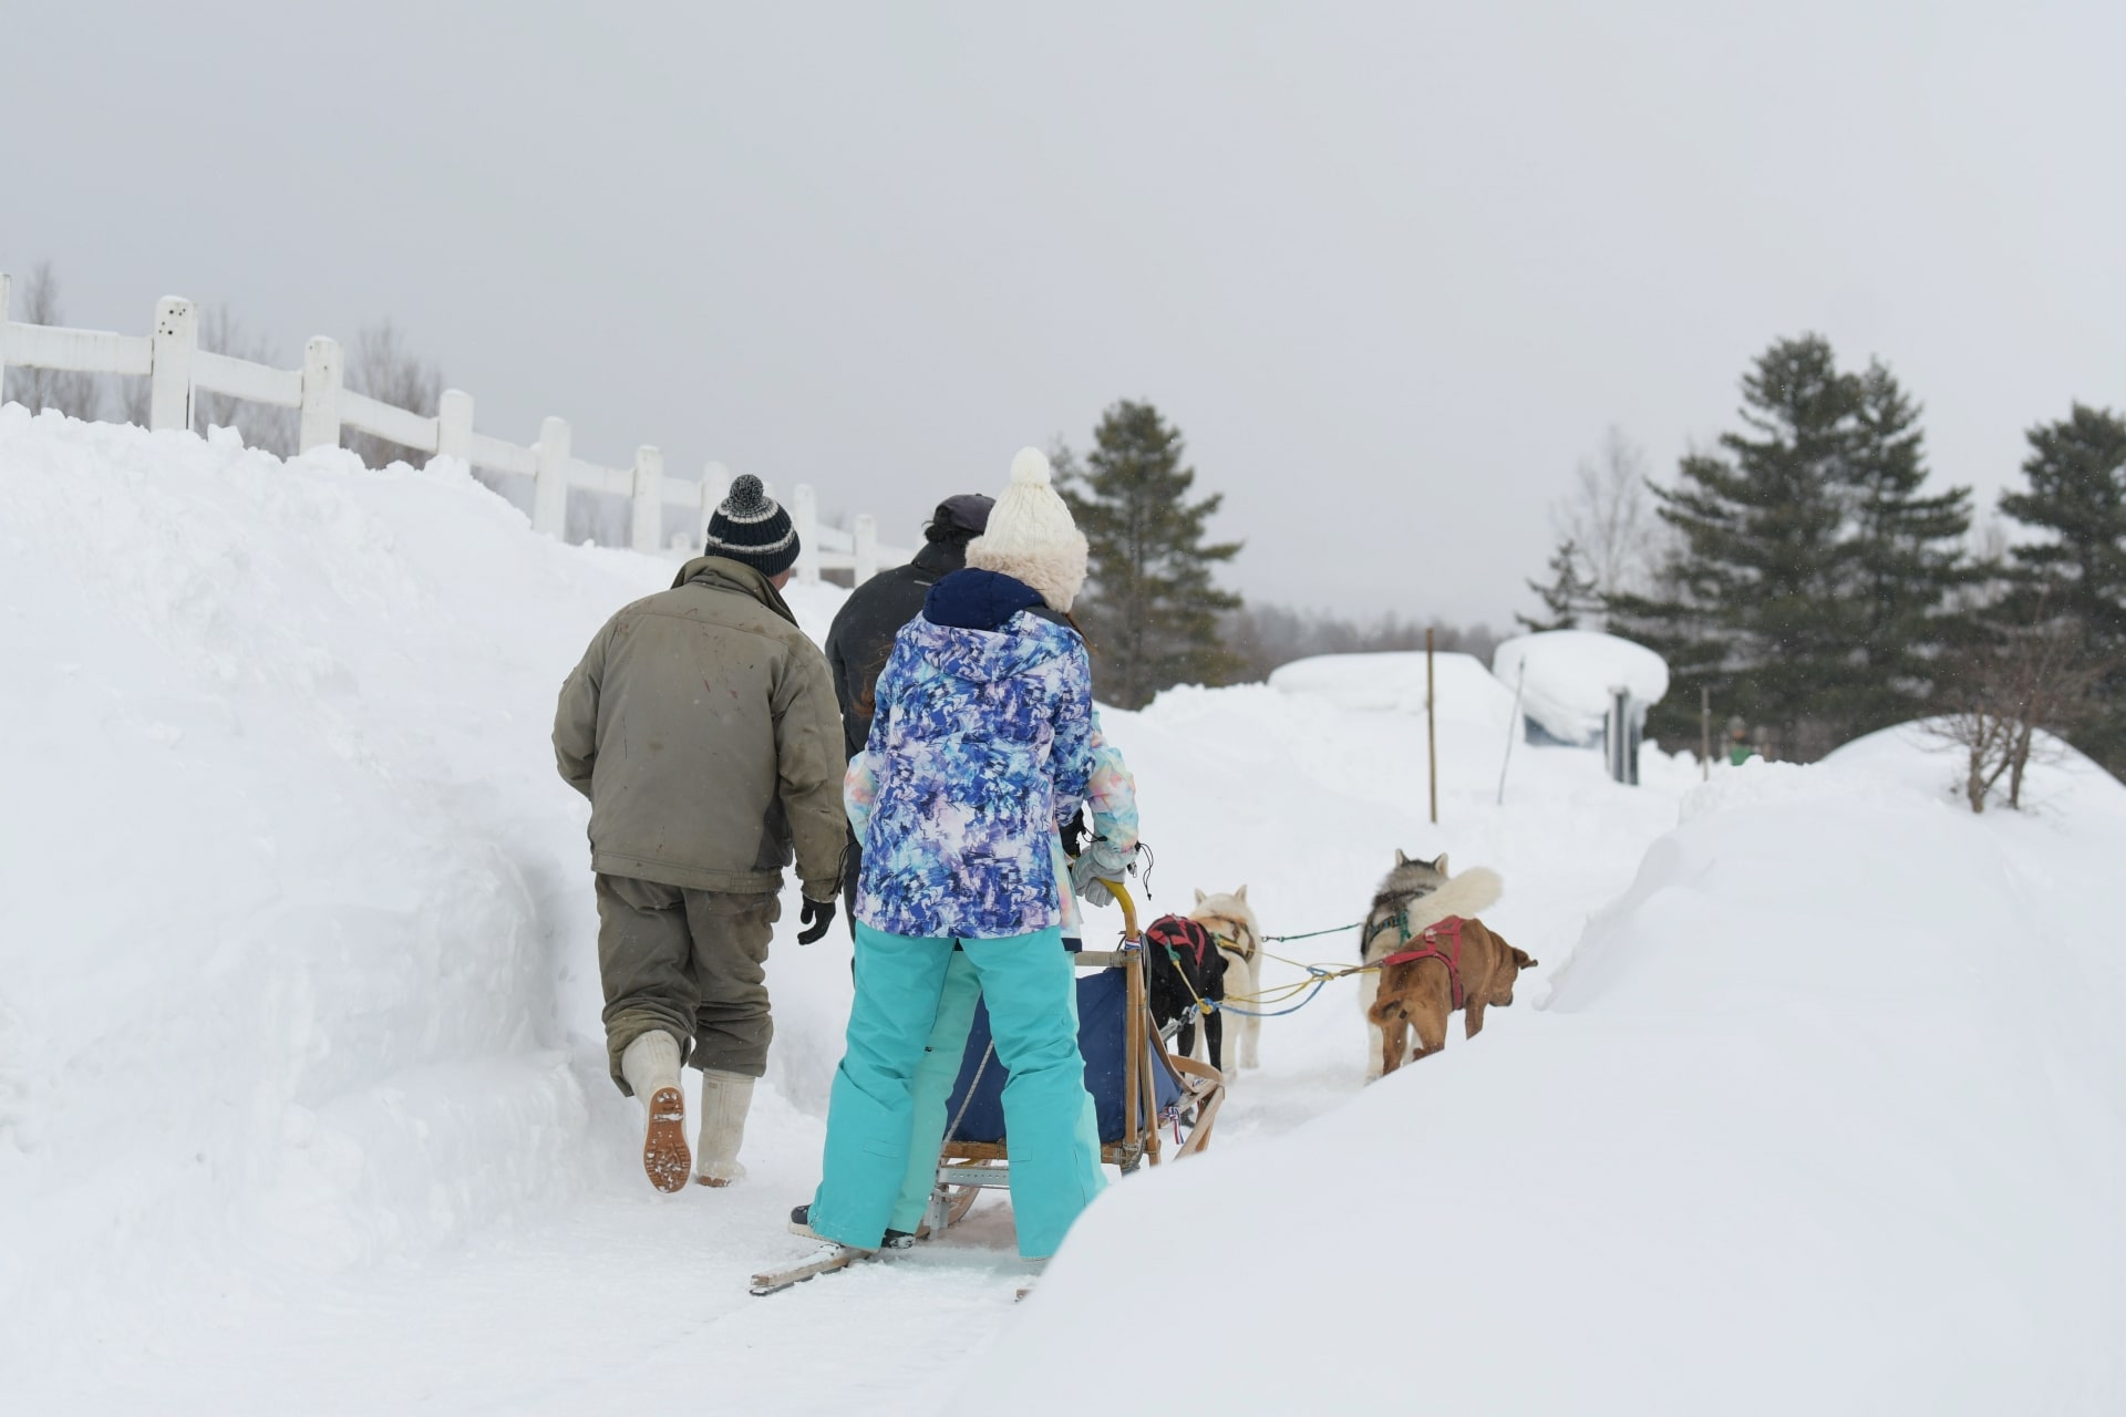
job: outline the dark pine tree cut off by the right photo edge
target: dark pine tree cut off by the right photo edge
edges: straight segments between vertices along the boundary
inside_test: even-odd
[[[2018,599],[2049,601],[2081,627],[2088,654],[2113,669],[2100,710],[2075,741],[2113,773],[2126,773],[2126,419],[2075,404],[2066,419],[2032,427],[2022,472],[2028,491],[2001,510],[2047,533],[2015,546]]]

